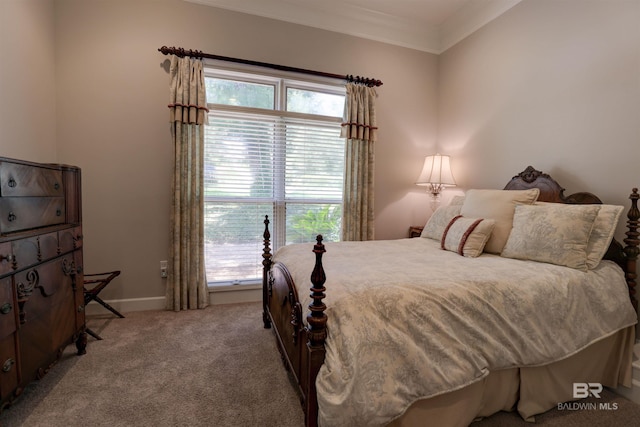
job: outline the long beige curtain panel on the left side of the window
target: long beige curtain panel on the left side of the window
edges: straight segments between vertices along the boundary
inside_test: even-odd
[[[204,308],[209,292],[204,265],[204,125],[202,60],[172,56],[169,119],[174,145],[173,203],[166,307]]]

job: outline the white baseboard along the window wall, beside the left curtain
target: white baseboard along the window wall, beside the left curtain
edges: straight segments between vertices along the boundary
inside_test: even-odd
[[[262,301],[262,286],[261,285],[239,285],[239,286],[225,286],[221,288],[213,288],[209,291],[209,304],[235,304],[241,302],[257,302]],[[164,310],[165,309],[165,297],[149,297],[149,298],[130,298],[130,299],[117,299],[117,300],[105,300],[107,304],[118,310],[120,313],[127,313],[132,311],[146,311],[146,310]],[[102,307],[95,301],[87,304],[85,308],[87,316],[102,315],[109,313],[109,310]]]

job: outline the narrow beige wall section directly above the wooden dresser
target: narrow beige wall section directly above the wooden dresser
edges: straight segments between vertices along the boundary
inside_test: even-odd
[[[57,160],[53,16],[53,0],[0,0],[0,157]]]

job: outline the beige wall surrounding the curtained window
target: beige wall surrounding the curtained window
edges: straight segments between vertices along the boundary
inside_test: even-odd
[[[435,55],[180,0],[58,0],[55,14],[58,155],[83,169],[86,270],[123,271],[106,298],[164,295],[172,146],[162,45],[382,80],[377,235],[404,237],[426,219],[413,182],[435,146]]]

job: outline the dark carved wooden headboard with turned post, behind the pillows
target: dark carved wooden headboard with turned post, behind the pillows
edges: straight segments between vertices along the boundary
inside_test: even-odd
[[[569,203],[569,204],[602,204],[595,194],[580,192],[569,196],[564,195],[564,188],[558,182],[546,173],[536,170],[532,166],[520,172],[504,187],[505,190],[527,190],[530,188],[540,189],[538,201],[553,203]],[[616,262],[625,272],[627,286],[629,287],[629,297],[633,307],[638,311],[638,300],[636,299],[636,268],[638,255],[640,254],[640,233],[638,232],[638,220],[640,219],[640,211],[638,210],[638,189],[634,188],[629,196],[631,199],[631,208],[627,213],[627,238],[624,239],[626,246],[623,246],[616,239],[611,241],[609,250],[604,256]]]

